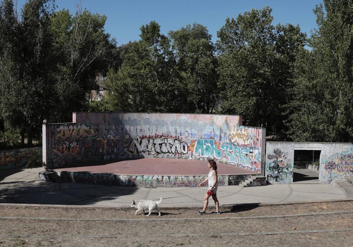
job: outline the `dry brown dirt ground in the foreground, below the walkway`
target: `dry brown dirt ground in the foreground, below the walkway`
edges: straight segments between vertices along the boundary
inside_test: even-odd
[[[135,210],[126,209],[0,207],[0,246],[353,247],[352,212],[233,218],[353,211],[352,206],[353,202],[248,206],[223,208],[220,215],[162,209],[160,217],[156,213],[150,217],[135,216]],[[208,212],[211,211],[212,208]],[[57,219],[4,219],[5,216]]]

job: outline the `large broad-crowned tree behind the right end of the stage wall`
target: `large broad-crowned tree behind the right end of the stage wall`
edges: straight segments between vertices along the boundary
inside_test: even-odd
[[[220,112],[241,114],[245,124],[281,135],[295,54],[306,35],[299,26],[273,26],[271,11],[267,6],[227,18],[217,32]]]

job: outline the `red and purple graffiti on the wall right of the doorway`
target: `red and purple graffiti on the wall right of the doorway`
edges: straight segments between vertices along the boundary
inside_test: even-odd
[[[341,176],[353,174],[353,149],[347,152],[335,153],[322,161],[323,174],[326,178],[338,179]],[[327,180],[327,179],[324,179]]]

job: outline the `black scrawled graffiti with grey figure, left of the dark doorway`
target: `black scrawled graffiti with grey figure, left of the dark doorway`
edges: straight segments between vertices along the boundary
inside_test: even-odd
[[[270,183],[292,183],[294,164],[288,154],[276,148],[273,154],[267,154],[266,178]]]

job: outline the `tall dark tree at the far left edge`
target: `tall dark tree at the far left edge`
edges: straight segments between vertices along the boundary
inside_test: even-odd
[[[2,118],[19,129],[22,143],[39,134],[44,114],[53,105],[51,73],[53,56],[49,34],[54,2],[30,0],[21,18],[11,0],[0,6],[0,89]]]

